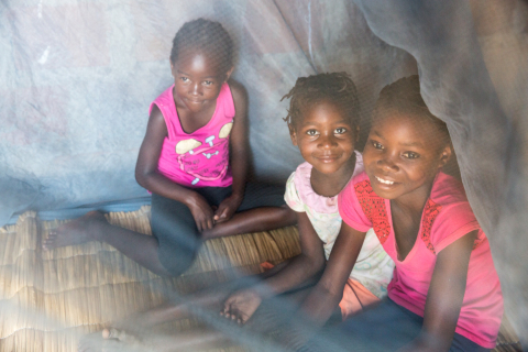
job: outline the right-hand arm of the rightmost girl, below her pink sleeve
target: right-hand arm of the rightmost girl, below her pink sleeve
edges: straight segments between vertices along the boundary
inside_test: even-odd
[[[448,351],[451,346],[476,235],[476,230],[470,232],[438,253],[421,333],[400,351]]]

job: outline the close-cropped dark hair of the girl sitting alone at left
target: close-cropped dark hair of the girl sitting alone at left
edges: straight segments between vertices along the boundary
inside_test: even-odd
[[[176,63],[180,52],[188,48],[201,50],[220,58],[224,70],[233,66],[233,41],[218,22],[197,19],[185,23],[173,40],[170,62]]]

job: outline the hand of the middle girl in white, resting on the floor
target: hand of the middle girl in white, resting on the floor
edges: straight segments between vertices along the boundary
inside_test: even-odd
[[[220,315],[238,323],[245,323],[253,316],[262,302],[261,296],[253,289],[244,289],[234,293],[223,302]]]

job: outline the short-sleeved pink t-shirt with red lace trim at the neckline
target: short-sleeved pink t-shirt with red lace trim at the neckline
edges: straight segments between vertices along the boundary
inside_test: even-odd
[[[424,208],[415,245],[400,262],[396,250],[391,201],[378,197],[365,173],[352,179],[339,196],[340,215],[350,227],[366,232],[374,228],[396,268],[388,297],[424,317],[437,254],[464,234],[479,230],[470,257],[464,300],[455,332],[493,349],[503,317],[503,294],[490,243],[471,210],[460,183],[439,173]]]

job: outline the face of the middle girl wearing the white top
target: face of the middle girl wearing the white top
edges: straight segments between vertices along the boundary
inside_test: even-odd
[[[302,118],[288,127],[294,145],[319,173],[342,169],[354,153],[358,131],[332,103],[321,101],[306,108]]]

